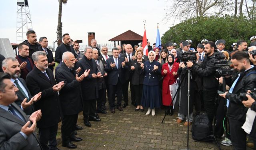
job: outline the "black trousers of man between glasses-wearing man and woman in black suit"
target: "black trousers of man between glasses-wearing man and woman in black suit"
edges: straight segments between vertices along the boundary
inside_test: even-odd
[[[122,92],[124,96],[124,102],[128,102],[128,88],[129,88],[129,82],[131,80],[131,77],[129,80],[126,80],[124,84],[122,84]],[[135,93],[134,93],[134,86],[130,83],[130,90],[131,90],[131,100],[132,102],[135,102]]]

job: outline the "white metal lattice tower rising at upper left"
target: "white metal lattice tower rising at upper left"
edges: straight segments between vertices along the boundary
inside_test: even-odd
[[[21,43],[26,40],[28,30],[33,30],[28,0],[17,0],[16,42]]]

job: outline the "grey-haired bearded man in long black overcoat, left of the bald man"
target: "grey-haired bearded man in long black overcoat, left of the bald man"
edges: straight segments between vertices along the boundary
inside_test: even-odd
[[[35,102],[35,110],[42,110],[43,114],[41,120],[37,122],[39,141],[44,150],[56,150],[61,112],[58,91],[64,86],[64,82],[56,84],[52,70],[48,69],[45,52],[34,52],[32,59],[35,66],[27,75],[26,84],[32,95],[42,92],[41,99]]]

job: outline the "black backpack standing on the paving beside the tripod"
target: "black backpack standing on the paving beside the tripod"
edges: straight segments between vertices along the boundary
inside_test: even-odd
[[[205,142],[211,142],[213,140],[212,137],[206,138],[207,136],[211,135],[211,124],[209,122],[208,116],[204,114],[198,114],[195,117],[191,132],[192,138],[194,140],[200,140]]]

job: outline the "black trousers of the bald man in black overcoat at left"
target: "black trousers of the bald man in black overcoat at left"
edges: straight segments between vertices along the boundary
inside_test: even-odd
[[[77,116],[78,114],[63,116],[61,124],[62,143],[68,144],[70,142],[70,137],[76,129]]]

